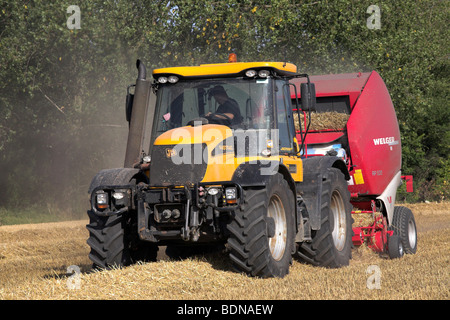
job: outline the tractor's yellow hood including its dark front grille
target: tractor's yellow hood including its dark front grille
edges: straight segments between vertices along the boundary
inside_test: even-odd
[[[151,158],[150,186],[229,181],[237,166],[233,131],[223,125],[164,132],[155,140]]]

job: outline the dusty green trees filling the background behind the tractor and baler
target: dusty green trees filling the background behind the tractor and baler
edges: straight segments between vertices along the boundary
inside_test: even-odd
[[[0,206],[77,208],[97,171],[122,166],[137,58],[152,69],[230,52],[309,74],[377,70],[415,179],[402,197],[448,199],[448,2],[377,1],[381,29],[369,29],[372,2],[83,1],[69,30],[67,1],[0,0]]]

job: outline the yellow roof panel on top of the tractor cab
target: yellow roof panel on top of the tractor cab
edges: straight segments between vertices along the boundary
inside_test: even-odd
[[[253,68],[273,68],[283,72],[296,73],[297,67],[286,62],[234,62],[219,64],[201,64],[193,67],[172,67],[153,70],[153,76],[158,74],[174,74],[182,77],[208,77],[218,75],[239,74],[244,70]]]

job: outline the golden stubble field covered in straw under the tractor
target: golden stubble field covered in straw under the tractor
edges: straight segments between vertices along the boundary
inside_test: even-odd
[[[449,203],[407,204],[415,215],[415,255],[389,260],[362,246],[348,267],[294,259],[283,279],[232,270],[226,252],[127,268],[91,270],[87,220],[0,227],[0,300],[299,300],[450,298]]]

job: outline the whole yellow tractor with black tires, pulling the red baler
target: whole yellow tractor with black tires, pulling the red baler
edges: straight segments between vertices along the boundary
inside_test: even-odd
[[[297,252],[348,265],[347,165],[305,159],[307,128],[294,123],[315,108],[314,84],[290,63],[233,58],[152,77],[138,60],[124,168],[100,171],[89,188],[94,266],[154,261],[160,246],[183,255],[216,245],[251,276],[284,277]]]

